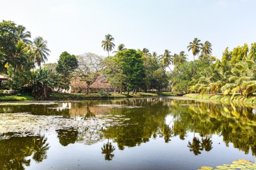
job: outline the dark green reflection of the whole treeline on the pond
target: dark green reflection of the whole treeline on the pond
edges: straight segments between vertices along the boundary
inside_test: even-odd
[[[104,104],[138,107],[110,108],[102,106]],[[118,150],[126,151],[129,147],[141,148],[139,146],[142,143],[158,141],[159,138],[161,143],[158,145],[175,145],[176,137],[180,142],[185,143],[184,151],[180,154],[192,152],[191,155],[204,155],[218,149],[213,145],[213,135],[219,135],[216,137],[218,142],[223,140],[227,147],[232,144],[233,149],[237,148],[244,154],[256,155],[255,108],[247,104],[200,103],[168,98],[118,99],[52,105],[2,105],[1,112],[59,115],[73,120],[112,119],[113,122],[106,122],[101,126],[56,130],[56,139],[62,146],[75,143],[94,146],[102,142],[98,149],[105,154],[105,160],[117,158],[117,151],[112,143],[116,143]],[[118,122],[123,122],[123,125],[118,125]],[[2,135],[11,136],[11,134]],[[106,142],[107,139],[108,142]],[[158,146],[154,147],[157,151]],[[2,140],[0,141],[0,169],[24,169],[23,166],[29,166],[31,162],[27,156],[32,156],[35,162],[42,162],[46,159],[48,149],[49,145],[43,137],[11,137],[11,139]],[[168,154],[171,153],[168,152]]]

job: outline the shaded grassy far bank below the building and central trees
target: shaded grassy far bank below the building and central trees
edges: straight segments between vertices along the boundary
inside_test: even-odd
[[[158,94],[137,92],[137,94],[109,94],[109,95],[100,95],[100,94],[64,94],[64,93],[51,93],[47,97],[47,100],[85,100],[85,99],[115,99],[115,98],[126,98],[126,97],[158,97]],[[160,96],[173,96],[169,92],[163,92]]]

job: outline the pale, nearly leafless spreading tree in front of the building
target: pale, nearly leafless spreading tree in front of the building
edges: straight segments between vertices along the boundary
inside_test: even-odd
[[[89,88],[95,82],[100,72],[104,69],[104,59],[93,53],[85,53],[77,56],[78,67],[74,73],[74,80],[86,82],[86,94],[89,94]],[[79,79],[77,79],[79,78]]]

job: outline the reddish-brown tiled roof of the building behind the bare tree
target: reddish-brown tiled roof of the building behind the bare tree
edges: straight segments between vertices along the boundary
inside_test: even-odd
[[[87,83],[81,78],[76,77],[71,81],[71,86],[75,88],[86,88]],[[111,88],[105,75],[99,75],[95,82],[90,85],[90,88]]]

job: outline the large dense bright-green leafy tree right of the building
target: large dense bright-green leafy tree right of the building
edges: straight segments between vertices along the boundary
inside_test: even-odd
[[[142,61],[142,53],[134,49],[122,50],[113,57],[119,68],[122,69],[122,74],[125,77],[123,84],[128,91],[136,90],[144,85],[144,68]]]

